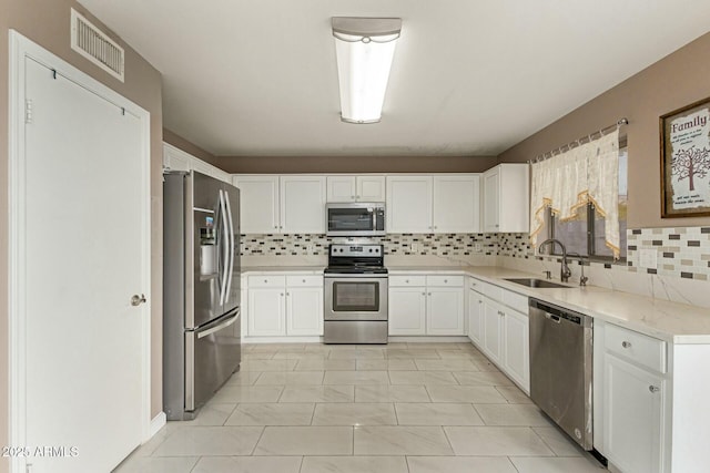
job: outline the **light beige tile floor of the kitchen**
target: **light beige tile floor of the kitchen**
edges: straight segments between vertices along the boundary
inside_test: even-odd
[[[468,343],[244,345],[241,371],[116,473],[587,473]]]

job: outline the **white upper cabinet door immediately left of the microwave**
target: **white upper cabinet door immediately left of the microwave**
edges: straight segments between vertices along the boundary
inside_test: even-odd
[[[325,233],[325,176],[281,177],[281,230]]]

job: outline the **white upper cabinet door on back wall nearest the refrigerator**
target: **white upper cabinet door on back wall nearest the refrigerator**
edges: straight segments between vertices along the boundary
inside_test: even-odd
[[[235,176],[240,189],[240,232],[275,234],[278,228],[278,176]]]

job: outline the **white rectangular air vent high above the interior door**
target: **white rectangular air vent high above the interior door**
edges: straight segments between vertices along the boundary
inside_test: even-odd
[[[123,82],[123,48],[73,8],[71,9],[71,49]]]

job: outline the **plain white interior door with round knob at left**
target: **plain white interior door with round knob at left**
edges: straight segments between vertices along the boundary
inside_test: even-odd
[[[14,443],[64,449],[28,459],[34,473],[105,472],[140,444],[148,415],[150,308],[131,305],[150,286],[144,123],[30,58],[19,68],[32,112],[18,154],[26,373]]]

